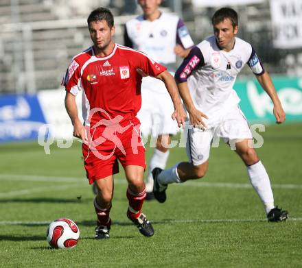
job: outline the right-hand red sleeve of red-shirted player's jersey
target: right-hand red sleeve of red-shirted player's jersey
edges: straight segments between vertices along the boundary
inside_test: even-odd
[[[137,62],[137,71],[139,73],[143,71],[143,74],[156,77],[160,73],[163,73],[163,71],[167,70],[165,66],[154,62],[154,60],[149,58],[145,53],[139,51],[135,56],[135,60]]]

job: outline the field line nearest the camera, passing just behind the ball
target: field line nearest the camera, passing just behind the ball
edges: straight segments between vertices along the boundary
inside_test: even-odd
[[[242,223],[242,222],[259,222],[268,221],[267,219],[165,219],[159,221],[152,221],[152,223]],[[302,221],[302,218],[290,218],[287,221]],[[14,225],[14,226],[44,226],[51,221],[0,221],[0,226]],[[114,224],[114,223],[113,223]],[[118,224],[118,222],[117,222]],[[79,224],[80,225],[80,224]]]

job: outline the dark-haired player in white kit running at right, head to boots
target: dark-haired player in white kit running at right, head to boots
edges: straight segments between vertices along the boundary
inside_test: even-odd
[[[268,173],[251,144],[252,134],[233,90],[237,74],[248,64],[259,84],[274,105],[277,123],[286,120],[279,97],[268,73],[264,70],[253,47],[237,38],[237,13],[221,8],[212,17],[214,35],[191,49],[176,71],[178,90],[189,114],[187,155],[171,169],[152,171],[154,196],[165,202],[167,184],[202,178],[209,165],[213,137],[217,136],[233,147],[242,158],[248,177],[259,195],[268,221],[283,221],[288,212],[275,207]]]

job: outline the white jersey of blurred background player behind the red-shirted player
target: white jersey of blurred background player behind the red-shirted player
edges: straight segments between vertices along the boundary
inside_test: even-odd
[[[162,13],[154,21],[148,21],[141,15],[126,23],[125,45],[147,53],[156,62],[174,64],[176,43],[185,49],[194,45],[187,27],[174,14]]]

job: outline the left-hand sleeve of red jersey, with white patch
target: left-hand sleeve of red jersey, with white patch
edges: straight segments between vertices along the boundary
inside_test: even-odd
[[[76,60],[73,60],[62,80],[62,86],[65,86],[65,90],[72,95],[77,95],[82,89],[80,77],[80,64]]]

